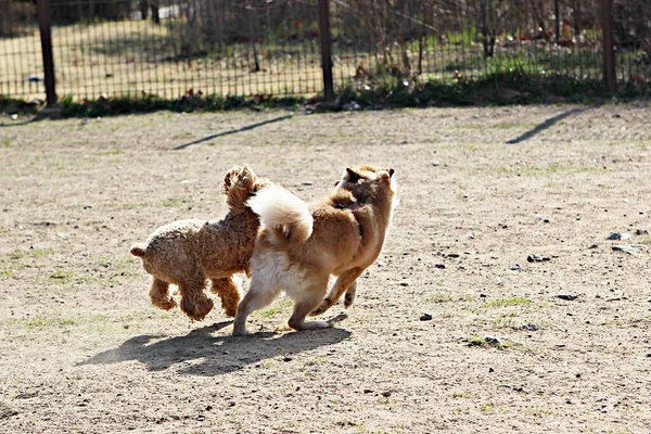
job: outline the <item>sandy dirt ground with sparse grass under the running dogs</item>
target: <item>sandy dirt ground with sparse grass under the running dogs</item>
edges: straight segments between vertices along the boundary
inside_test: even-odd
[[[648,105],[0,122],[0,432],[651,432]],[[131,244],[244,163],[307,201],[396,169],[333,329],[150,304]]]

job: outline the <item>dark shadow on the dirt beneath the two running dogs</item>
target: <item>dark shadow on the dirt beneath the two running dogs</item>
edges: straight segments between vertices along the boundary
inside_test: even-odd
[[[341,318],[336,317],[331,322],[339,320]],[[248,365],[278,356],[291,359],[292,355],[334,345],[350,336],[350,332],[343,329],[290,333],[258,332],[248,336],[212,335],[231,323],[232,321],[218,322],[192,330],[183,336],[135,336],[119,347],[99,353],[77,366],[137,360],[151,371],[179,366],[179,373],[213,376],[238,371]]]

